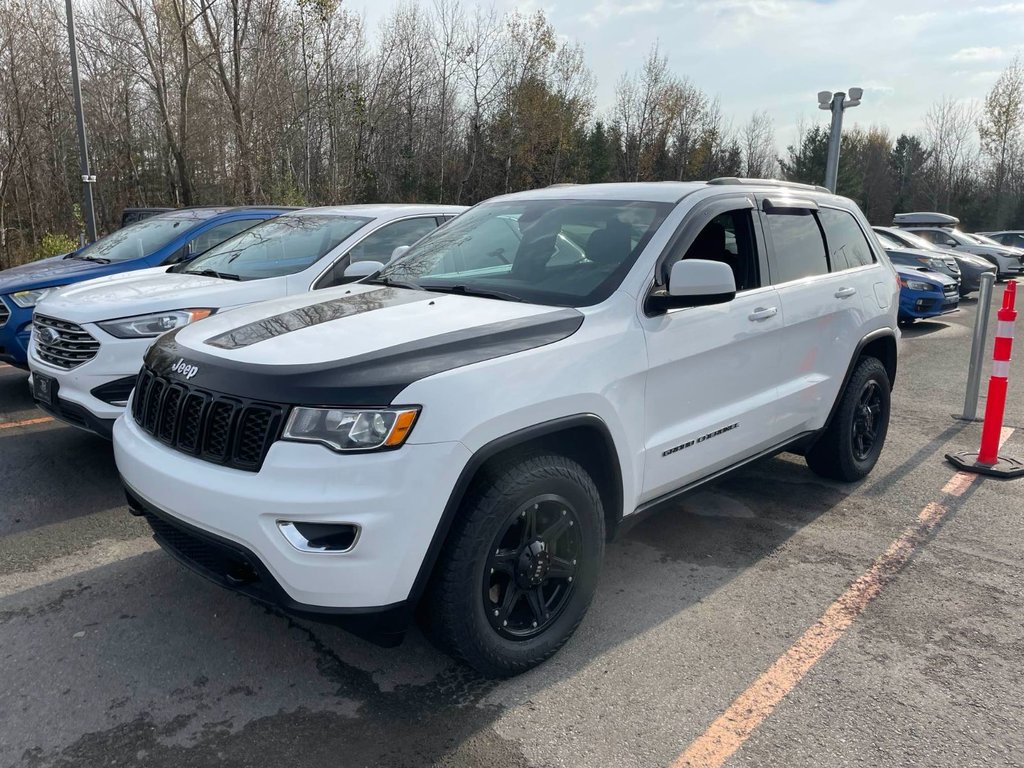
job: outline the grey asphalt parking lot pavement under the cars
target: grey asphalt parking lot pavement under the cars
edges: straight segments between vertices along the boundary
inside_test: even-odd
[[[951,417],[975,313],[904,331],[869,478],[782,456],[649,518],[575,637],[504,682],[185,571],[110,444],[0,368],[0,766],[1024,765],[1024,479],[943,461],[978,444]]]

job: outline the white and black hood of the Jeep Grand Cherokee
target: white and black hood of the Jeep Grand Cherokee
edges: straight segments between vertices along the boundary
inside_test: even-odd
[[[384,406],[414,381],[571,336],[575,309],[353,284],[173,331],[146,367],[270,402]]]

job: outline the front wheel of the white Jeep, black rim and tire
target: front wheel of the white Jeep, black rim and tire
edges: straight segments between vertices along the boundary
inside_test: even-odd
[[[487,677],[525,672],[571,637],[604,557],[604,510],[578,463],[543,454],[485,471],[445,542],[428,631]]]

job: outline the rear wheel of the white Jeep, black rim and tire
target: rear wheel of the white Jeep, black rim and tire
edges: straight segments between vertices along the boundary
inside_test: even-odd
[[[811,471],[845,482],[865,477],[878,463],[889,432],[891,391],[885,366],[876,357],[861,357],[831,423],[807,452]]]

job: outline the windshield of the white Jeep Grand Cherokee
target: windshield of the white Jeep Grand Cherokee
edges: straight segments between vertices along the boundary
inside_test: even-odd
[[[510,200],[464,213],[375,282],[538,304],[587,306],[618,287],[669,203]]]

